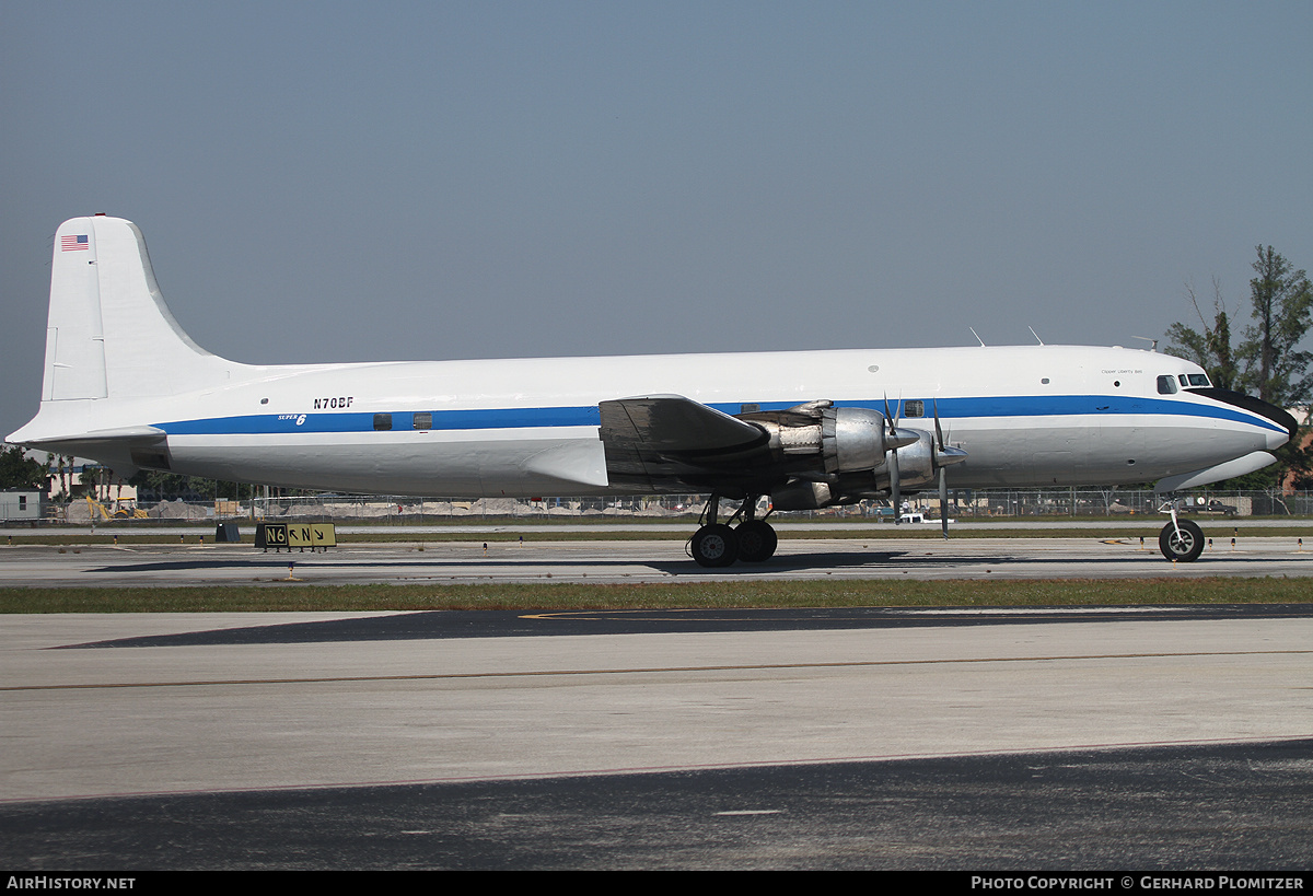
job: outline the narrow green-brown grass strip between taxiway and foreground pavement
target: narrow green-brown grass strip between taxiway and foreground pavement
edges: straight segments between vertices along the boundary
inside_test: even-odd
[[[0,589],[0,614],[1309,603],[1306,578]]]

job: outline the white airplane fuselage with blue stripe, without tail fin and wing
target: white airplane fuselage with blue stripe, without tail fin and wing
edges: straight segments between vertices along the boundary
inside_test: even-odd
[[[105,402],[104,419],[98,402],[80,402],[77,430],[158,427],[177,473],[471,498],[607,493],[597,405],[654,394],[727,414],[888,402],[901,428],[924,431],[937,411],[947,443],[968,455],[952,487],[1148,482],[1287,440],[1260,414],[1157,388],[1200,372],[1155,352],[1073,346],[231,364],[214,388]]]

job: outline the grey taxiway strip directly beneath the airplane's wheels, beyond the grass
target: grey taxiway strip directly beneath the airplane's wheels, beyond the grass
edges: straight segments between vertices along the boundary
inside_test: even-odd
[[[1090,539],[789,540],[765,564],[697,566],[679,541],[540,541],[524,544],[345,544],[328,553],[263,553],[251,545],[89,545],[0,548],[0,585],[183,586],[276,585],[294,577],[316,585],[366,582],[697,582],[819,578],[1148,578],[1159,575],[1313,575],[1313,544],[1297,536],[1230,539],[1196,562],[1173,564],[1154,536]]]

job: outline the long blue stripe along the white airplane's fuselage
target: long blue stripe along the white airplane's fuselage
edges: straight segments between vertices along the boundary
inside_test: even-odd
[[[710,405],[725,414],[738,414],[743,403],[718,402]],[[779,411],[796,402],[758,402],[762,411]],[[903,405],[907,399],[903,399]],[[884,399],[838,401],[839,407],[884,409]],[[924,401],[927,414],[934,414],[935,401]],[[897,414],[895,402],[890,409]],[[940,398],[939,416],[943,420],[993,416],[1201,416],[1247,423],[1274,432],[1285,432],[1274,422],[1258,414],[1247,414],[1229,405],[1171,401],[1127,395],[1016,395],[985,398]],[[155,423],[168,435],[261,435],[289,432],[373,432],[373,411],[306,413],[306,414],[249,414],[242,416],[215,416],[193,420]],[[462,430],[516,430],[528,427],[599,426],[596,405],[582,407],[498,407],[477,410],[432,411],[432,431]],[[902,418],[902,423],[915,427],[930,423],[932,416]],[[391,431],[412,427],[411,411],[391,413]]]

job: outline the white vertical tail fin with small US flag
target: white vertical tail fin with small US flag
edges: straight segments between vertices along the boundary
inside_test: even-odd
[[[137,225],[96,215],[59,226],[43,403],[176,394],[219,385],[236,367],[192,342],[169,314]]]

